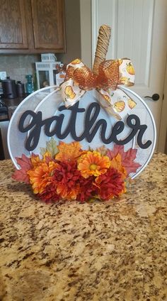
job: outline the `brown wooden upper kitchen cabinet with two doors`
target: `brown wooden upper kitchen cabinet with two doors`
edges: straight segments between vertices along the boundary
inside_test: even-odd
[[[1,0],[0,53],[64,53],[64,0]]]

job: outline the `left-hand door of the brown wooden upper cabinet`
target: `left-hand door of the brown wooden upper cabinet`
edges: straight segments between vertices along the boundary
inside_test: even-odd
[[[1,0],[0,49],[28,49],[24,0]]]

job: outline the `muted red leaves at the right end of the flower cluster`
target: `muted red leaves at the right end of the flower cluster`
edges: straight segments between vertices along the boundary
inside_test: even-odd
[[[124,151],[124,146],[115,145],[113,151],[110,151],[108,149],[107,155],[110,158],[110,160],[112,160],[113,158],[115,158],[117,153],[120,153],[121,155],[122,165],[125,167],[127,175],[129,175],[129,173],[136,173],[137,168],[141,166],[139,163],[134,162],[137,156],[137,149],[129,148],[128,151]]]

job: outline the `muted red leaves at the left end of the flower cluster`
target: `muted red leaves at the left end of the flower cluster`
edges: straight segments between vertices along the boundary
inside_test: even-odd
[[[12,178],[18,182],[25,182],[29,184],[28,170],[33,168],[30,158],[26,157],[26,155],[22,155],[21,158],[16,158],[18,165],[21,166],[20,170],[15,170]]]

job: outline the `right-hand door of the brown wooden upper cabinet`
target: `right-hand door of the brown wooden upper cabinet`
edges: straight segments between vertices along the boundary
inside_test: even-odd
[[[31,0],[35,49],[64,52],[64,0]]]

